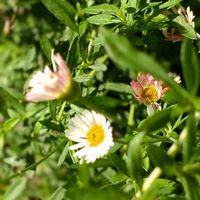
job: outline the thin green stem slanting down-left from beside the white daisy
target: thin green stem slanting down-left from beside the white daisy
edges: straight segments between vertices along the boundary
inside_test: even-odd
[[[52,151],[50,151],[46,156],[44,156],[42,159],[40,159],[39,161],[33,163],[33,164],[30,164],[29,166],[25,167],[23,170],[20,170],[18,171],[17,173],[11,175],[10,177],[7,178],[7,181],[10,180],[10,179],[13,179],[19,175],[23,175],[26,171],[28,170],[32,170],[34,169],[35,167],[37,167],[40,163],[42,163],[43,161],[45,161],[47,158],[49,158],[52,154],[54,154],[56,151],[58,151],[58,149],[67,141],[66,138],[64,138],[60,144],[58,144],[58,146],[53,149]]]

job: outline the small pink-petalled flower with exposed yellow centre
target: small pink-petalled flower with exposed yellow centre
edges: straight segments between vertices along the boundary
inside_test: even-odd
[[[154,108],[158,106],[157,101],[168,90],[163,86],[163,82],[154,79],[150,74],[140,74],[137,81],[132,80],[131,86],[137,101],[145,105],[152,105]]]

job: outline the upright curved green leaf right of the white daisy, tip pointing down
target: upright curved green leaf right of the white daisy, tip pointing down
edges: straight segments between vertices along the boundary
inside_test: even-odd
[[[142,177],[144,174],[141,156],[141,143],[143,137],[144,133],[138,133],[131,140],[128,147],[128,170],[130,175],[136,180],[140,188],[142,188]]]

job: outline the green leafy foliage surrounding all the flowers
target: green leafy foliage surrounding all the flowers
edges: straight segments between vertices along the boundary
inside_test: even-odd
[[[92,7],[103,3],[109,6]],[[192,27],[159,15],[179,4],[1,0],[0,199],[131,199],[156,166],[162,176],[140,199],[200,199],[200,42]],[[200,32],[200,1],[181,5],[191,6]],[[174,26],[181,26],[182,42],[165,40],[161,29]],[[51,64],[52,48],[68,63],[82,99],[27,103],[25,83]],[[181,87],[169,71],[181,75]],[[167,108],[152,117],[132,95],[129,82],[138,72],[173,88]],[[83,108],[104,113],[114,127],[115,146],[89,165],[77,163],[64,136]],[[175,152],[167,153],[172,144]]]

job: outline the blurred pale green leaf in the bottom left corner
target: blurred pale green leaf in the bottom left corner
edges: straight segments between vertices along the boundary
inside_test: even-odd
[[[4,200],[15,200],[22,198],[23,191],[26,188],[27,178],[20,177],[16,179],[7,189],[4,195]]]

